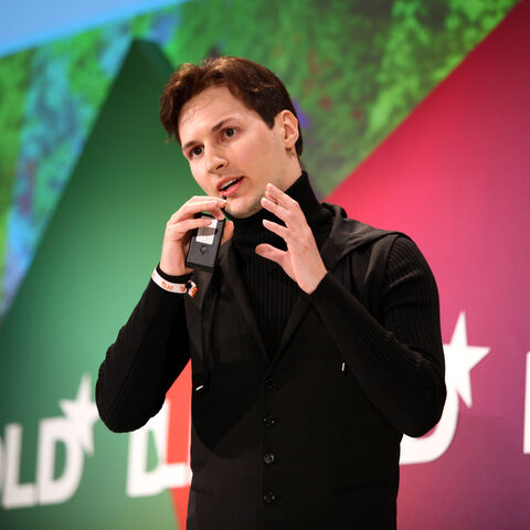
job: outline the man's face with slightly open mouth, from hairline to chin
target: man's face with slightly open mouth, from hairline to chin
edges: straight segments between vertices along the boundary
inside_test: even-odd
[[[235,218],[261,210],[267,182],[280,190],[292,184],[280,115],[269,129],[224,86],[206,88],[182,107],[179,135],[191,173],[206,194],[225,195]]]

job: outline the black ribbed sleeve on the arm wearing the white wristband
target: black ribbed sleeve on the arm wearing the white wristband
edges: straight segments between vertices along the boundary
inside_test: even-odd
[[[150,280],[116,342],[108,348],[99,367],[96,404],[112,431],[141,427],[160,410],[166,392],[186,367],[184,296],[168,293]]]

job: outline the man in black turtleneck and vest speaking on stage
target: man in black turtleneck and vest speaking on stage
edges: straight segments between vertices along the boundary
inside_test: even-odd
[[[425,259],[405,235],[319,204],[267,68],[186,64],[161,119],[205,195],[168,221],[100,367],[103,421],[142,426],[191,358],[189,529],[395,528],[402,434],[430,431],[445,401]],[[203,211],[229,218],[213,274],[184,263]]]

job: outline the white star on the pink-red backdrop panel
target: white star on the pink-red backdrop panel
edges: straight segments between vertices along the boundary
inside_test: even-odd
[[[467,343],[466,311],[460,311],[451,344],[444,344],[447,386],[458,392],[469,407],[471,398],[471,369],[488,353],[489,348]]]

